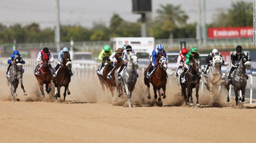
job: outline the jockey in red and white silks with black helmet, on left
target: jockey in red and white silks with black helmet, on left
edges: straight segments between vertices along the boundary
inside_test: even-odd
[[[54,62],[53,55],[52,55],[52,53],[50,52],[50,50],[49,50],[47,47],[44,47],[43,50],[41,50],[41,51],[38,53],[37,58],[36,58],[36,60],[37,60],[38,62],[40,62],[38,68],[36,69],[36,73],[35,73],[36,75],[39,75],[39,69],[42,67],[42,56],[43,56],[43,55],[48,55],[48,56],[49,56],[49,62],[51,62],[51,63]],[[49,63],[49,67],[52,69],[50,63]],[[52,69],[52,70],[53,70],[53,69]]]

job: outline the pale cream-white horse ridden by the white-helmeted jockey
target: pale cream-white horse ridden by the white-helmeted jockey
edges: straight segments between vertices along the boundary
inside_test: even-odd
[[[219,90],[218,87],[220,87],[222,79],[222,73],[220,69],[222,61],[222,57],[219,54],[215,54],[212,60],[212,66],[209,68],[207,75],[205,76],[202,74],[202,79],[206,84],[207,90],[217,93],[217,100],[221,94],[221,90]]]

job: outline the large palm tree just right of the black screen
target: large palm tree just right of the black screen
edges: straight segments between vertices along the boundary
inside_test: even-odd
[[[158,16],[156,22],[160,22],[162,29],[168,31],[170,39],[172,39],[172,31],[177,27],[182,27],[186,24],[188,16],[180,9],[181,5],[174,6],[173,4],[160,5],[161,9],[157,9]]]

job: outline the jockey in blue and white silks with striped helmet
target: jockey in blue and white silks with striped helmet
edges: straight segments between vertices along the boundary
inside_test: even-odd
[[[154,68],[157,67],[157,59],[159,57],[159,54],[161,56],[164,56],[166,59],[168,59],[168,56],[166,54],[166,52],[164,51],[164,46],[162,44],[158,44],[156,45],[156,48],[152,51],[152,58],[150,58],[150,69],[148,71],[148,74],[147,74],[147,78],[150,78],[150,73],[153,71]]]

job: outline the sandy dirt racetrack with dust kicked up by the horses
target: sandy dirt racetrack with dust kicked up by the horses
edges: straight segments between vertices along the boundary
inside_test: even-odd
[[[27,96],[20,85],[17,102],[10,101],[5,72],[0,72],[0,142],[254,142],[256,109],[234,99],[226,103],[223,91],[219,104],[208,91],[199,93],[201,107],[183,104],[178,86],[168,79],[163,107],[149,106],[142,75],[132,95],[134,108],[126,97],[114,97],[101,90],[98,78],[72,80],[67,102],[48,94],[41,99],[34,75],[23,75]],[[171,82],[169,80],[172,80]],[[151,91],[153,97],[153,92]],[[193,93],[194,102],[196,102]],[[209,106],[210,105],[210,106]]]

